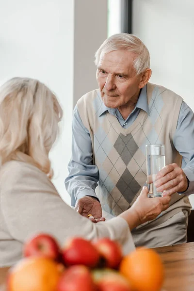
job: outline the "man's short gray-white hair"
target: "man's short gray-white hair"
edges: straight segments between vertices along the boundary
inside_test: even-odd
[[[129,33],[113,34],[107,38],[95,54],[95,64],[97,66],[99,65],[101,54],[106,54],[118,49],[129,50],[137,55],[133,62],[133,67],[137,75],[150,67],[149,51],[145,44],[137,36]]]

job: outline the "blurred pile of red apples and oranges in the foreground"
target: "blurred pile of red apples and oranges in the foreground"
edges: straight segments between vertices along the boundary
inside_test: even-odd
[[[163,265],[154,250],[141,247],[122,258],[121,246],[109,238],[90,242],[74,237],[61,249],[51,235],[42,233],[25,243],[24,255],[29,258],[10,269],[7,291],[161,291],[162,288]]]

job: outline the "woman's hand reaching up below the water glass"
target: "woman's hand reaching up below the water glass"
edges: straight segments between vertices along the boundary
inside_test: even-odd
[[[131,208],[120,214],[120,217],[128,222],[130,230],[157,218],[163,210],[169,207],[170,196],[148,198],[147,194],[147,187],[143,187],[143,190]]]

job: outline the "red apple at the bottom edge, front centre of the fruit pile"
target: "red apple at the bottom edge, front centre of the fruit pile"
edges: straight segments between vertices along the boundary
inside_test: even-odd
[[[71,266],[58,282],[56,291],[96,291],[90,270],[83,266]]]

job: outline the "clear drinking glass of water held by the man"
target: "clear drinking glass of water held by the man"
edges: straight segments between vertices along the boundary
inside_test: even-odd
[[[156,175],[165,166],[165,146],[146,145],[147,184],[148,197],[162,197],[162,192],[157,192],[154,182]]]

